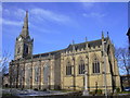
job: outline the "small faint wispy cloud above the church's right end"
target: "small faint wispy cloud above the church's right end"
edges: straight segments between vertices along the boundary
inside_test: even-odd
[[[95,17],[95,19],[101,19],[106,16],[104,13],[98,13],[98,12],[91,12],[91,13],[83,13],[82,16],[84,17]]]

